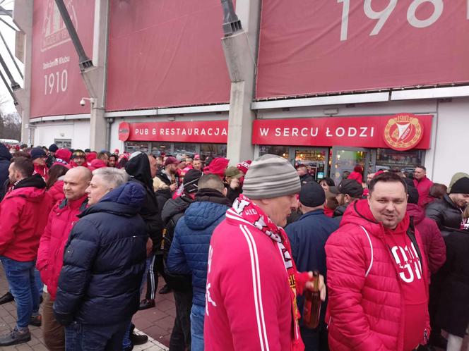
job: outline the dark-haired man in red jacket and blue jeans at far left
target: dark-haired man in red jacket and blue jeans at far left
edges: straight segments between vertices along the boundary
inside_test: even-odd
[[[30,159],[18,157],[11,163],[13,187],[0,204],[0,260],[16,301],[16,327],[0,337],[0,346],[31,340],[28,324],[40,324],[39,292],[34,267],[40,236],[52,207],[46,183],[34,172]]]

